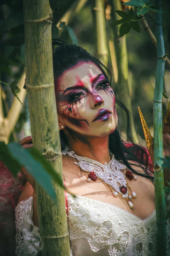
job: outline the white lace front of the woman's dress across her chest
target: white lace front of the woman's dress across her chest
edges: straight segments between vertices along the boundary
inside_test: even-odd
[[[68,198],[70,240],[86,238],[92,251],[110,256],[155,256],[155,211],[145,220],[125,210],[83,196]],[[149,254],[148,254],[149,253]]]

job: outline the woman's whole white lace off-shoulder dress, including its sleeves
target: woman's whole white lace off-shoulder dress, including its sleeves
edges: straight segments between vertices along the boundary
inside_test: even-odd
[[[73,256],[155,256],[155,211],[142,220],[114,205],[67,194],[68,224]],[[32,197],[16,208],[16,255],[38,255],[42,241],[38,228],[28,228]],[[25,214],[27,217],[25,218]],[[27,219],[27,229],[25,227]],[[23,227],[25,227],[25,230]],[[31,231],[33,230],[33,231]],[[35,233],[34,233],[35,231]],[[26,232],[26,233],[25,233]],[[34,244],[35,243],[35,244]],[[23,254],[23,247],[27,254]],[[34,252],[34,253],[33,253]],[[73,254],[72,254],[73,253]],[[167,256],[170,256],[170,225],[167,221]]]

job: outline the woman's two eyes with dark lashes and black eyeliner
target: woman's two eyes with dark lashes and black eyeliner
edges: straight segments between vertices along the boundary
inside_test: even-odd
[[[105,79],[105,80],[101,80],[99,81],[96,85],[95,85],[95,89],[104,89],[106,88],[107,86],[109,86],[109,80],[108,79]],[[84,92],[83,91],[76,91],[72,94],[69,94],[68,95],[68,98],[69,98],[69,102],[76,102],[76,101],[79,101],[83,96],[84,96]]]

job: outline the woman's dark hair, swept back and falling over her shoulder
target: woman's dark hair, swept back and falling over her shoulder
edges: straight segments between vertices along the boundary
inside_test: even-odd
[[[108,68],[100,60],[93,57],[85,49],[75,44],[68,45],[64,41],[58,40],[58,39],[53,40],[52,46],[53,46],[54,81],[56,81],[56,78],[59,77],[61,74],[63,74],[65,70],[75,66],[78,62],[91,61],[101,69],[104,76],[109,80],[109,84],[111,86],[112,73],[110,72],[110,70],[108,70]],[[56,83],[55,83],[55,87],[56,87]],[[109,150],[112,154],[114,154],[116,159],[124,163],[134,173],[149,179],[153,179],[153,176],[151,175],[152,172],[147,168],[148,166],[147,152],[143,147],[136,145],[133,142],[132,134],[131,134],[131,113],[128,111],[128,109],[124,106],[124,104],[120,100],[118,100],[117,98],[115,100],[116,100],[116,104],[119,105],[119,107],[123,109],[123,111],[125,111],[126,113],[127,137],[131,141],[133,146],[130,148],[127,148],[124,145],[123,141],[121,140],[120,129],[117,127],[115,131],[109,135]],[[63,130],[60,130],[60,139],[61,139],[61,148],[63,150],[67,145],[67,140]],[[136,150],[140,153],[140,156],[141,156],[140,160],[134,154]],[[139,165],[142,165],[141,167],[144,170],[145,174],[135,171],[135,169],[129,164],[128,160],[134,161],[133,165],[138,166],[138,164],[136,164],[135,162],[139,163]]]

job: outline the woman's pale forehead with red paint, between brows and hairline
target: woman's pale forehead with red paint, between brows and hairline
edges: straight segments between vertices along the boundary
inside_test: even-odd
[[[58,77],[57,84],[58,86],[64,85],[70,87],[77,83],[91,82],[101,73],[102,71],[95,63],[81,61],[76,66],[64,71],[64,73]]]

